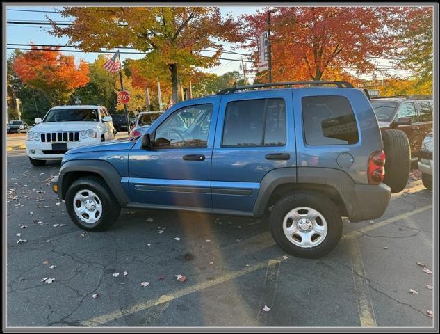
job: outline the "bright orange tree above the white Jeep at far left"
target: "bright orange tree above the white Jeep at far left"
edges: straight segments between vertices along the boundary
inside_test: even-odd
[[[58,49],[32,46],[12,64],[23,83],[40,90],[52,106],[67,102],[76,87],[88,82],[88,65],[84,61],[75,65],[74,56],[65,56]]]

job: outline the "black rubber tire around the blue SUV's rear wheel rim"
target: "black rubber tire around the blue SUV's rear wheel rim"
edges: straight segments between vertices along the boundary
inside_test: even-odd
[[[317,246],[304,248],[293,244],[284,234],[283,221],[288,212],[297,207],[309,207],[318,211],[327,221],[327,235]],[[269,217],[270,232],[277,244],[287,253],[296,257],[316,258],[333,250],[342,234],[342,219],[336,204],[320,193],[295,191],[275,203]]]

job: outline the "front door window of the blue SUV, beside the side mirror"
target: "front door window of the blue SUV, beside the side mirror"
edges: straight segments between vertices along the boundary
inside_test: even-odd
[[[174,111],[157,128],[154,144],[159,148],[206,148],[212,113],[212,104]]]

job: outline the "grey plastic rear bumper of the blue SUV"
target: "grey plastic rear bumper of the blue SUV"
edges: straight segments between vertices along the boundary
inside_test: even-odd
[[[376,219],[384,214],[391,199],[391,188],[386,184],[355,184],[357,209],[349,216],[350,221]],[[354,203],[353,203],[354,204]]]

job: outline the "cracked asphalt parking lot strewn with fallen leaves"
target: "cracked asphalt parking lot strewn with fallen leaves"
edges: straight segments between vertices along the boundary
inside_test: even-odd
[[[111,230],[84,233],[51,192],[58,169],[8,152],[7,326],[433,325],[432,192],[420,180],[307,260],[251,218],[122,209]]]

